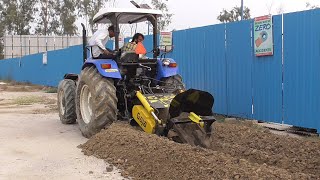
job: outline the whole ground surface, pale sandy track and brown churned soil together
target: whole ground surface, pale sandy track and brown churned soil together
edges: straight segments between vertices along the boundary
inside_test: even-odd
[[[45,92],[54,90],[0,84],[0,179],[320,179],[318,137],[219,117],[208,149],[124,122],[87,140],[59,122],[56,93]]]

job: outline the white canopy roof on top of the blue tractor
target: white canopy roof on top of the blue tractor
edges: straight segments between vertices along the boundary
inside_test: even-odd
[[[150,17],[162,15],[160,10],[143,8],[104,8],[93,17],[94,23],[112,23],[116,17],[117,24],[132,24],[148,21]]]

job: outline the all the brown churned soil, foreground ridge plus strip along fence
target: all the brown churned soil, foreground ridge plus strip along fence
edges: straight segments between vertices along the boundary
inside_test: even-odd
[[[136,179],[320,179],[320,142],[216,123],[212,148],[177,144],[114,123],[81,148]]]

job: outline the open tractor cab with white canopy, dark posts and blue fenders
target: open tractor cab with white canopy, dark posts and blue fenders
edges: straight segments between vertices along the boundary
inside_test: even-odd
[[[114,58],[111,59],[110,62],[111,69],[118,69],[119,73],[117,77],[115,77],[117,72],[113,70],[111,74],[109,70],[101,70],[100,73],[102,75],[105,74],[105,77],[112,78],[134,78],[136,75],[148,76],[151,78],[155,78],[160,80],[161,78],[169,77],[177,73],[178,68],[171,67],[167,68],[167,63],[172,62],[175,63],[174,60],[166,60],[165,66],[163,65],[163,59],[157,58],[160,54],[160,50],[158,48],[158,17],[162,15],[160,10],[153,9],[143,9],[143,8],[103,8],[101,9],[93,18],[94,23],[98,24],[112,24],[114,26],[115,31],[115,49],[114,49]],[[123,52],[121,47],[119,46],[119,34],[120,34],[120,25],[122,24],[134,24],[140,22],[149,22],[153,28],[153,47],[152,49],[148,49],[149,52],[152,52],[152,57],[146,57],[141,54],[137,54],[136,52]],[[84,27],[84,26],[83,26]],[[85,28],[84,28],[84,36]],[[85,37],[83,39],[86,39]],[[83,43],[84,48],[86,42]],[[90,47],[89,47],[90,50]],[[84,57],[87,57],[87,50],[84,50]],[[92,57],[92,55],[91,55]],[[96,61],[96,62],[93,62]],[[104,60],[106,61],[106,60]],[[97,61],[97,59],[93,58],[84,58],[84,62],[86,63],[94,63],[97,66],[97,63],[103,61]],[[98,65],[99,66],[99,65]],[[109,72],[109,73],[108,73]],[[160,73],[158,73],[160,72]],[[108,73],[108,74],[106,74]],[[169,74],[168,74],[169,73]],[[170,74],[171,73],[171,74]]]

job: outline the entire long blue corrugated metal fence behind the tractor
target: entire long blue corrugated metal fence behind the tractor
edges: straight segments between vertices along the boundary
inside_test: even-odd
[[[320,132],[319,18],[319,9],[285,14],[283,22],[273,16],[273,56],[254,55],[253,20],[247,20],[175,31],[167,57],[178,62],[187,88],[214,95],[216,113]],[[144,45],[152,50],[152,36]],[[47,65],[42,54],[0,61],[0,78],[57,86],[65,73],[80,72],[81,48],[50,51]]]

